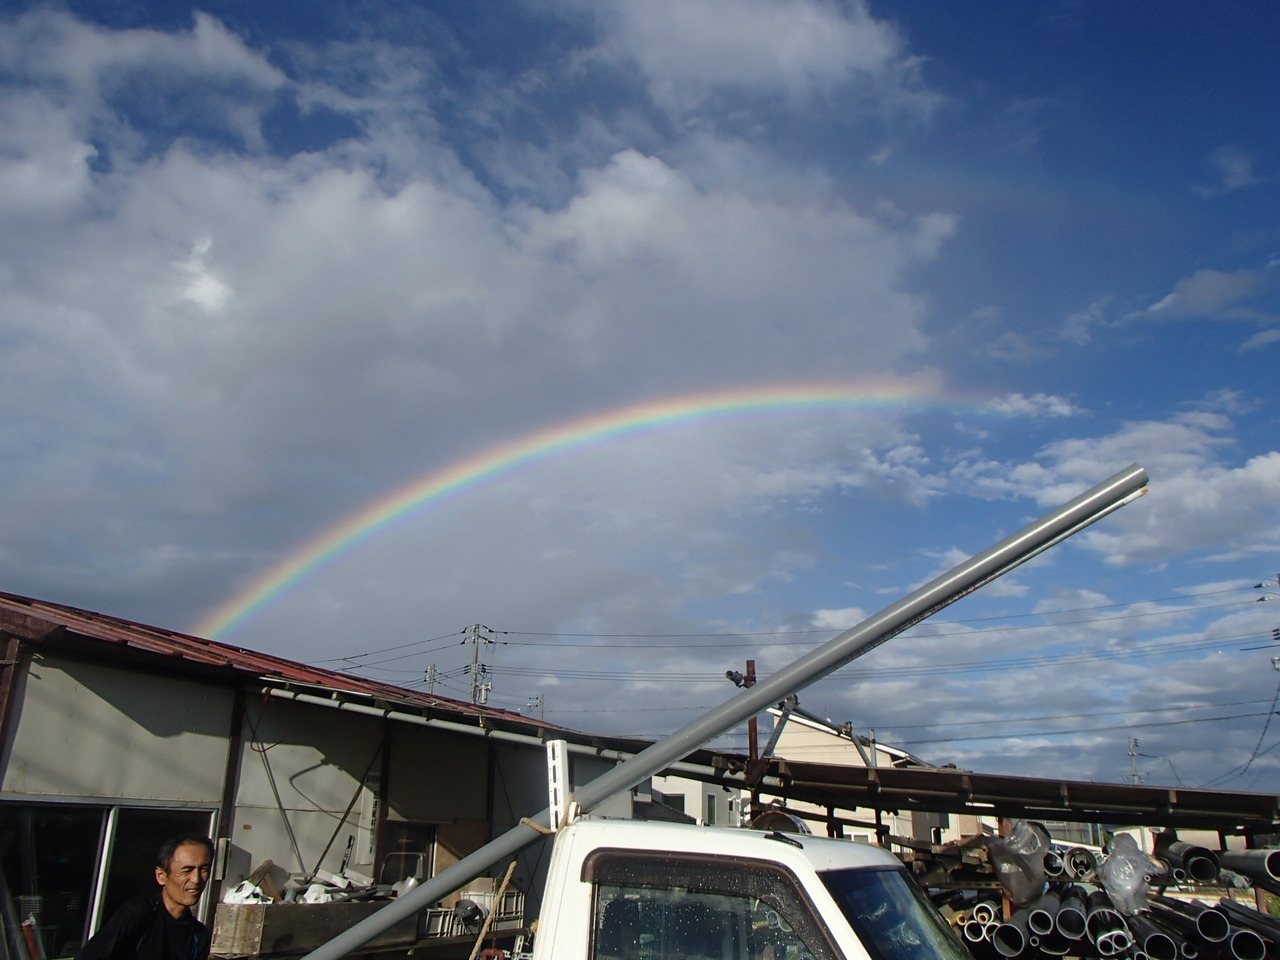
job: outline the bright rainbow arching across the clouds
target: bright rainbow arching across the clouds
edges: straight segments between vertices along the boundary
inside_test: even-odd
[[[645,401],[535,430],[449,466],[433,470],[381,497],[278,561],[256,580],[205,613],[196,636],[218,639],[392,524],[553,454],[589,444],[717,417],[815,408],[911,408],[947,404],[920,379],[754,387]],[[970,404],[972,406],[972,404]]]

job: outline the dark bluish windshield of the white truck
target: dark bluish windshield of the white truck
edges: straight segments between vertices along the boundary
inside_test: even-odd
[[[828,870],[820,877],[873,960],[972,960],[901,870]]]

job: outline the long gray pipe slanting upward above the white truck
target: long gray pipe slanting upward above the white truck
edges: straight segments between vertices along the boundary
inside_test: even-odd
[[[613,769],[580,787],[573,794],[573,800],[586,812],[614,794],[630,790],[672,762],[687,756],[713,737],[732,730],[749,717],[754,717],[797,690],[818,682],[850,660],[874,650],[886,640],[973,593],[983,584],[1007,573],[1053,544],[1101,520],[1107,513],[1142,495],[1146,486],[1147,471],[1140,466],[1134,463],[1121,470],[1070,503],[1044,515],[1012,536],[1005,538],[975,557],[970,557],[937,580],[868,617],[856,627],[832,637],[817,650],[783,667],[768,680],[744,689],[737,696],[724,701],[704,717],[641,750],[630,760],[623,760]],[[390,925],[452,893],[494,864],[515,856],[538,841],[549,823],[550,812],[544,809],[536,817],[529,818],[529,822],[512,827],[500,837],[458,860],[453,867],[392,900],[374,915],[348,927],[328,943],[312,950],[303,960],[339,960],[339,957],[362,947]]]

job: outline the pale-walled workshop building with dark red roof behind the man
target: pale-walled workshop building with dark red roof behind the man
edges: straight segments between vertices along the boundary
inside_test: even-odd
[[[547,806],[548,739],[576,750],[575,782],[646,745],[9,594],[0,644],[0,905],[49,957],[155,888],[168,836],[218,841],[207,920],[268,860],[439,872]]]

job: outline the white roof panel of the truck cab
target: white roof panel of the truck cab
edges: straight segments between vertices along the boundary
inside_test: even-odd
[[[902,867],[902,861],[883,847],[808,833],[604,818],[582,818],[567,829],[593,847],[749,856],[791,865],[808,864],[814,870]]]

